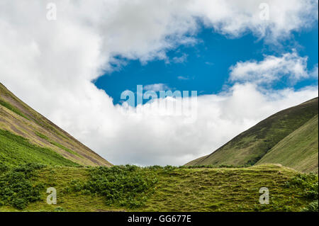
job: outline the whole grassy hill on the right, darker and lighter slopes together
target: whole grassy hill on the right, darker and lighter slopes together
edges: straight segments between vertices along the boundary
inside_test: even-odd
[[[295,130],[298,130],[298,128],[301,128],[311,118],[315,117],[315,115],[318,115],[318,98],[314,98],[305,103],[301,103],[298,106],[280,111],[279,113],[276,113],[269,118],[262,120],[260,123],[254,125],[249,130],[242,132],[240,135],[237,135],[237,137],[233,138],[233,140],[230,140],[230,142],[226,143],[225,145],[223,145],[223,147],[220,147],[212,154],[209,154],[206,157],[195,159],[194,161],[189,162],[186,165],[191,166],[229,164],[233,166],[240,166],[254,165],[259,160],[261,162],[264,162],[264,160],[261,159],[262,157],[264,157],[265,154],[267,154],[268,152],[270,154],[271,150],[281,140],[283,140],[288,135],[291,135],[291,133]],[[303,131],[304,129],[301,128],[301,130]],[[317,131],[317,133],[315,133],[315,131]],[[292,163],[291,161],[293,161],[293,159],[290,159],[290,163],[287,164],[288,166],[303,164],[303,166],[298,166],[296,169],[301,169],[303,171],[313,171],[313,162],[318,162],[318,130],[308,130],[308,132],[313,132],[313,134],[310,135],[312,139],[308,139],[302,143],[298,143],[298,148],[294,150],[296,152],[303,152],[303,150],[307,149],[308,147],[312,147],[314,149],[311,149],[305,153],[296,153],[293,156],[302,156],[304,162],[298,162],[298,160],[300,159],[295,159],[296,162]],[[301,134],[302,132],[295,133],[295,135],[293,136],[295,137],[295,142],[296,140],[298,140],[296,136]],[[305,136],[309,135],[303,135],[303,137]],[[315,136],[317,136],[317,140],[315,140]],[[286,142],[281,143],[280,146],[276,147],[276,153],[281,153],[278,149],[283,147],[284,145],[286,146],[286,149],[289,149],[291,145],[287,146],[287,142],[289,142],[289,138],[287,138]],[[317,145],[316,155],[314,154],[315,145]],[[276,156],[278,157],[278,154]],[[270,161],[270,158],[271,156],[269,155],[267,159],[269,159]],[[287,163],[282,162],[281,160],[282,159],[280,158],[272,158],[272,163]],[[318,171],[318,167],[316,170]]]

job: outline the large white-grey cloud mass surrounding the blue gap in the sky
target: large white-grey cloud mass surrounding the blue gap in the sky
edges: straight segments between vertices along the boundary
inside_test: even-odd
[[[47,3],[57,6],[48,21]],[[269,21],[259,4],[269,4]],[[11,91],[114,164],[184,164],[283,108],[317,96],[235,84],[198,97],[198,118],[122,114],[92,80],[116,56],[167,60],[167,50],[194,45],[198,21],[218,33],[252,32],[274,42],[317,20],[317,1],[105,0],[0,2],[0,78]],[[140,106],[146,108],[145,106]]]

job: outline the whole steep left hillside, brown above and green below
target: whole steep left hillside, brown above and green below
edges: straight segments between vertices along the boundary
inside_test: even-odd
[[[111,166],[0,83],[0,163]]]

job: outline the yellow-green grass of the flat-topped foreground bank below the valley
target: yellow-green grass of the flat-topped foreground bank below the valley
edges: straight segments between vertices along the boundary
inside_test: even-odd
[[[124,167],[124,166],[121,166]],[[113,168],[113,169],[112,169]],[[298,179],[299,174],[283,166],[262,165],[249,168],[186,168],[186,167],[159,167],[152,166],[138,168],[134,166],[133,174],[128,168],[118,171],[118,166],[108,168],[74,168],[74,167],[45,167],[38,169],[33,176],[33,184],[42,184],[43,191],[40,200],[30,203],[26,211],[302,211],[313,206],[313,199],[305,196],[305,183],[293,181],[306,181],[309,186],[315,188],[318,176],[311,180]],[[93,170],[93,171],[92,171]],[[111,170],[111,171],[110,171]],[[92,172],[94,172],[92,174]],[[107,173],[106,173],[107,172]],[[128,178],[134,178],[138,172],[138,178],[155,181],[150,186],[143,188],[133,183]],[[97,174],[96,174],[97,173]],[[106,174],[105,174],[106,173]],[[97,180],[92,178],[97,176]],[[101,176],[101,177],[100,177]],[[120,191],[121,198],[108,196],[104,191],[92,186],[92,181],[99,181],[99,186],[106,181],[121,181],[128,179],[125,189]],[[300,177],[300,176],[299,176]],[[113,180],[112,180],[113,178]],[[114,178],[117,178],[114,180]],[[297,179],[296,179],[297,178]],[[74,183],[74,179],[77,179]],[[92,180],[93,179],[93,180]],[[122,183],[122,181],[121,181]],[[105,188],[121,188],[114,183]],[[133,185],[133,189],[127,189]],[[74,186],[77,189],[74,189]],[[118,187],[120,186],[120,187]],[[47,205],[46,188],[57,189],[57,205]],[[259,188],[269,188],[269,205],[259,204]],[[137,188],[134,190],[134,188]],[[91,191],[90,191],[91,190]],[[97,192],[96,192],[97,191]],[[311,191],[308,189],[307,191]],[[315,191],[313,189],[312,191]],[[103,193],[106,192],[106,193]],[[139,205],[126,205],[133,195],[135,200],[143,200]],[[121,205],[121,200],[126,204]],[[315,205],[314,205],[315,206]],[[0,207],[0,211],[16,211],[10,205]]]

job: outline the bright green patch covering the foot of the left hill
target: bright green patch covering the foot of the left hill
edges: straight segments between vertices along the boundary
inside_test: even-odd
[[[51,149],[33,145],[24,137],[0,130],[0,164],[18,166],[28,163],[79,166]]]

